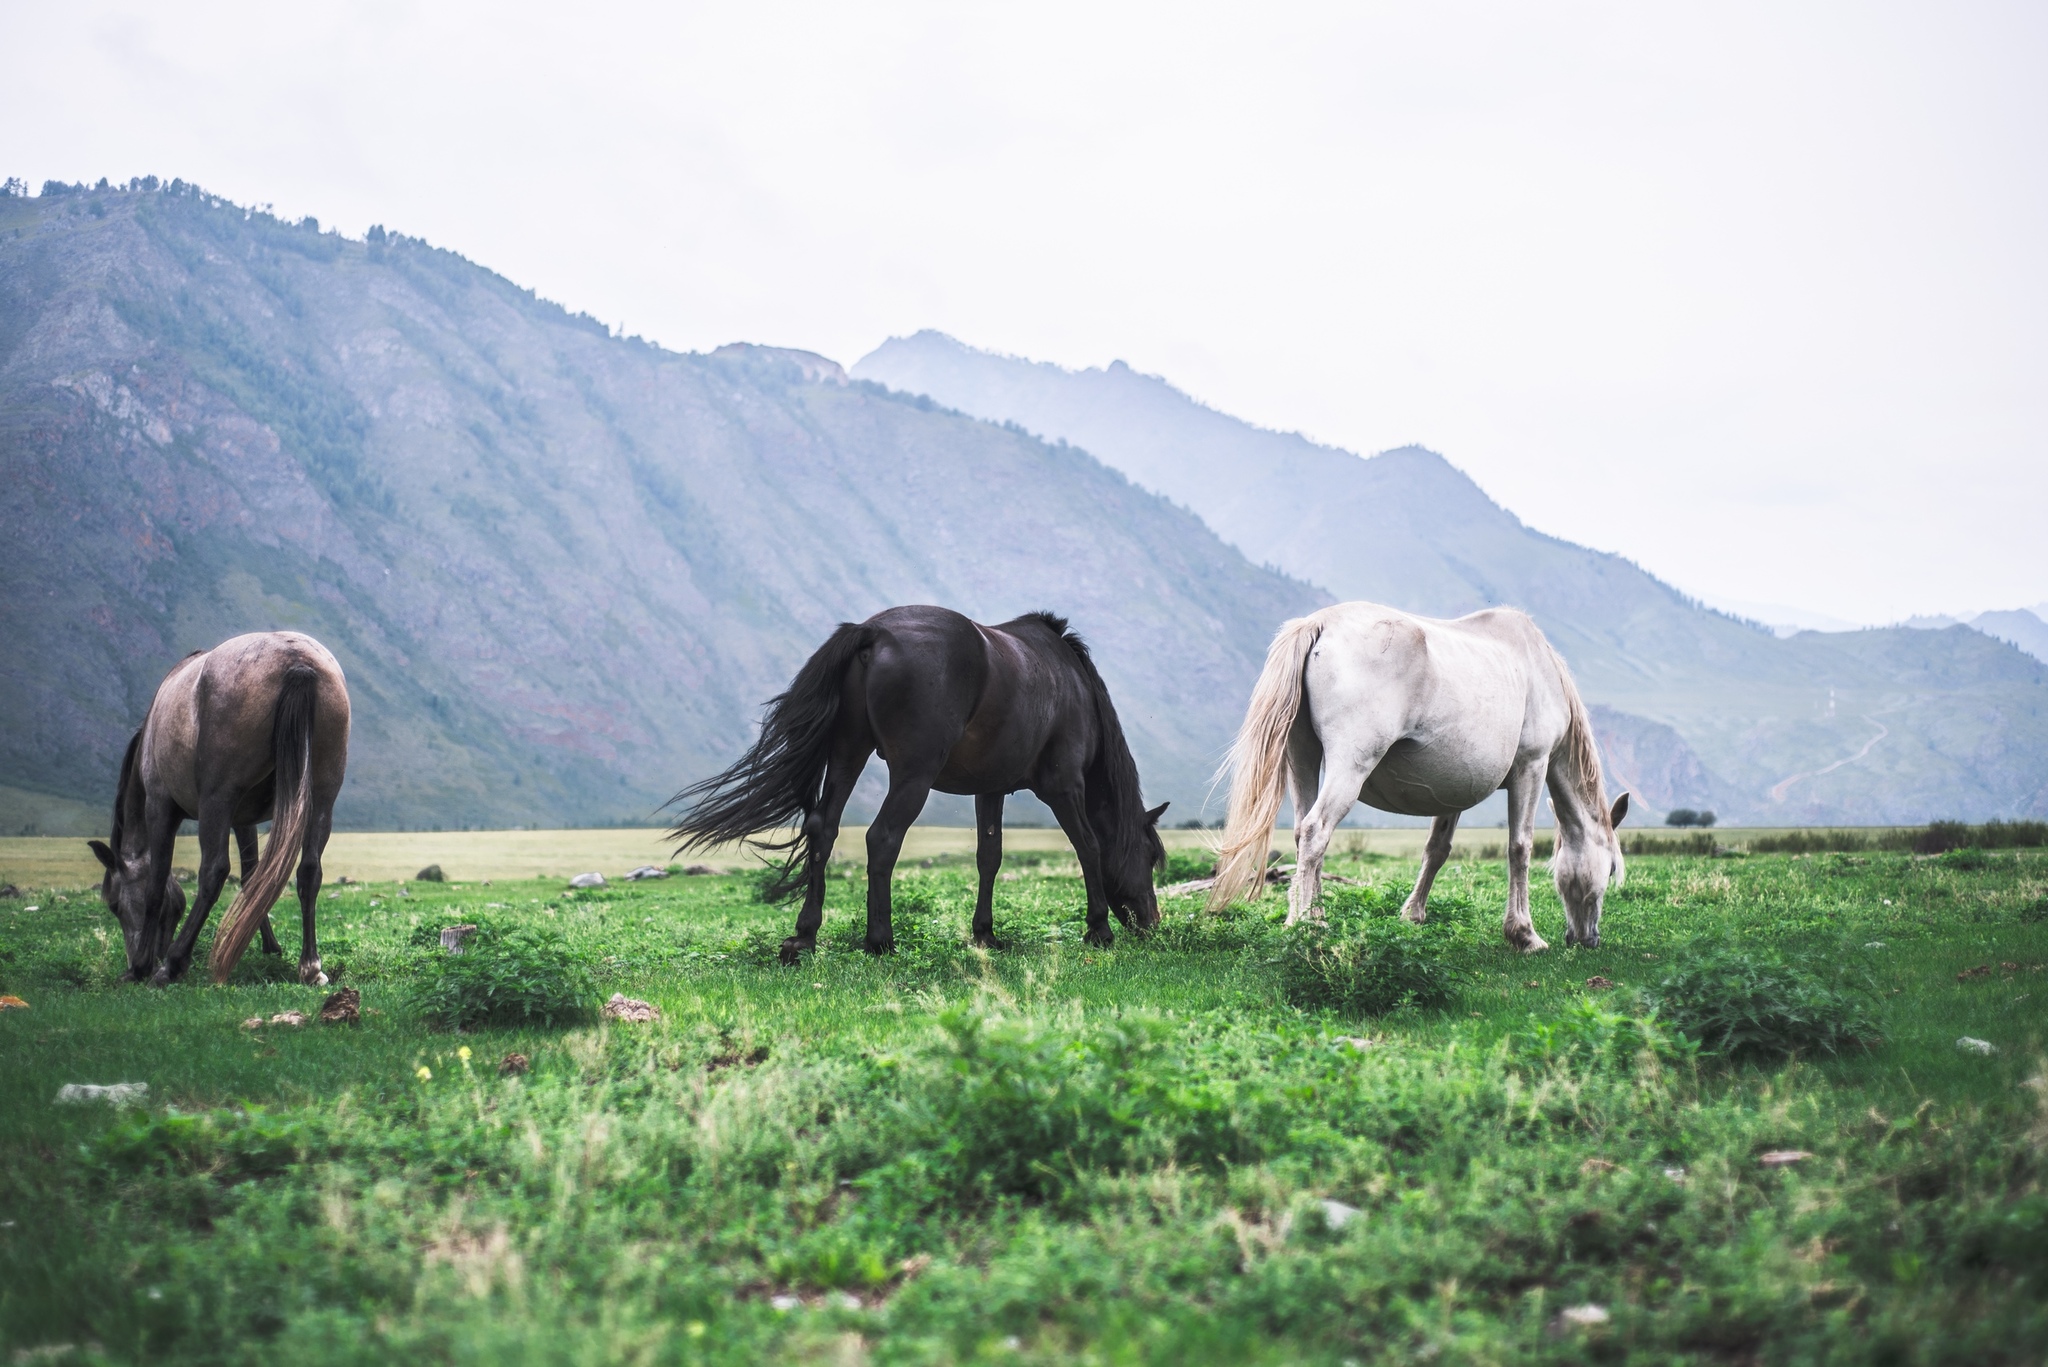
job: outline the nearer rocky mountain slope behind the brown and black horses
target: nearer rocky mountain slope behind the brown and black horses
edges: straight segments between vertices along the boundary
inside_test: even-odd
[[[14,828],[104,812],[164,670],[270,627],[348,674],[338,822],[647,822],[895,603],[1071,617],[1147,793],[1198,810],[1327,600],[1069,445],[180,182],[0,197],[0,473]]]

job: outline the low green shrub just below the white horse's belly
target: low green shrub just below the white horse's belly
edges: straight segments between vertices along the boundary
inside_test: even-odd
[[[1401,1006],[1446,1006],[1458,971],[1444,955],[1444,928],[1374,916],[1356,926],[1303,922],[1280,953],[1280,988],[1305,1008],[1380,1017]]]

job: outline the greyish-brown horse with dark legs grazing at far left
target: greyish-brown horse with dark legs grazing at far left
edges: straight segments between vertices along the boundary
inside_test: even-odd
[[[299,867],[299,982],[324,986],[313,906],[334,797],[348,769],[348,685],[328,648],[297,631],[238,635],[195,650],[158,685],[121,758],[113,834],[90,840],[100,898],[121,922],[129,978],[176,982],[227,881],[227,836],[242,846],[242,889],[213,935],[213,982],[227,982],[260,928],[281,953],[270,908]],[[178,826],[199,822],[193,910],[170,873]],[[256,859],[256,822],[270,844]]]

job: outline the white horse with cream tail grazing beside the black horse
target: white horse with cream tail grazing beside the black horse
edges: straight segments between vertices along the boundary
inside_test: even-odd
[[[1354,801],[1436,818],[1401,908],[1421,922],[1458,816],[1507,789],[1501,930],[1513,949],[1548,949],[1530,920],[1536,801],[1548,785],[1556,814],[1550,873],[1565,902],[1565,943],[1599,945],[1602,900],[1610,881],[1618,887],[1626,877],[1614,828],[1628,814],[1628,793],[1608,807],[1585,703],[1528,613],[1485,609],[1440,621],[1337,603],[1282,625],[1225,760],[1235,779],[1210,910],[1264,889],[1282,769],[1296,851],[1288,924],[1315,914],[1323,855]]]

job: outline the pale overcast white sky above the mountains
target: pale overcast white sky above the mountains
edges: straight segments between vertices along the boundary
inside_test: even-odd
[[[1122,359],[1714,603],[2048,600],[2048,6],[4,0],[0,51],[0,176],[678,350]]]

